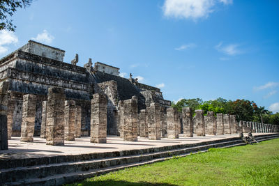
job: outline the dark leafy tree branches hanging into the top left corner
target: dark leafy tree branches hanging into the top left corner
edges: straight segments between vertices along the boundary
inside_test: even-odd
[[[0,0],[0,30],[15,31],[16,26],[10,18],[18,8],[30,6],[32,0]]]

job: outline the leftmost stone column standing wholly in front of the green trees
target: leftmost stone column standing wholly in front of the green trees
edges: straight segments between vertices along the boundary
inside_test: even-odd
[[[183,115],[183,137],[193,137],[194,126],[193,126],[193,115],[190,107],[182,108]]]

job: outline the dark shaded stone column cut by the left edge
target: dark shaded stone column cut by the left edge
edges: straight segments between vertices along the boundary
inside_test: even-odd
[[[8,150],[7,105],[9,82],[0,84],[0,150]]]

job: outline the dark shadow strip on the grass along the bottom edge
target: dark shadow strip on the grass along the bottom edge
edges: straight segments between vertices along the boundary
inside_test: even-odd
[[[147,185],[159,185],[159,186],[176,186],[168,183],[148,183],[148,182],[140,182],[140,183],[132,183],[127,181],[116,181],[116,180],[104,180],[104,181],[90,181],[90,180],[84,180],[82,184],[74,184],[74,185],[103,185],[103,186],[120,186],[120,185],[132,185],[132,186],[147,186]]]

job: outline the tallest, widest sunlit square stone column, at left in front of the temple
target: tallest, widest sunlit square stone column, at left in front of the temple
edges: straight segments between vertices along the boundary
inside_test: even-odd
[[[47,126],[45,130],[47,145],[64,145],[64,101],[65,93],[63,88],[48,88]]]

